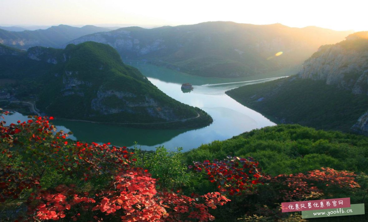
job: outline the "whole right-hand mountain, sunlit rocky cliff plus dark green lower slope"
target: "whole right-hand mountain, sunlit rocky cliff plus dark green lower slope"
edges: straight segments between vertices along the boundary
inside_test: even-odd
[[[226,92],[281,123],[368,132],[368,39],[354,33],[321,48],[298,75]]]

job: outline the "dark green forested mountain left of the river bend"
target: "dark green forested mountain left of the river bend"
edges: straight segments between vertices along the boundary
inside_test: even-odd
[[[32,47],[27,52],[2,45],[0,56],[0,78],[20,79],[17,93],[36,94],[37,107],[47,115],[158,128],[212,122],[205,112],[164,94],[106,44]],[[176,122],[142,125],[170,121]]]

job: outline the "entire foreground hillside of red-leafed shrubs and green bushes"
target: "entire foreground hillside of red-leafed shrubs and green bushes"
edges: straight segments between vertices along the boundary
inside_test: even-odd
[[[277,125],[187,153],[145,152],[55,135],[51,120],[0,122],[4,221],[139,221],[143,212],[163,222],[327,222],[282,213],[280,203],[344,197],[367,211],[368,137]],[[333,219],[363,222],[367,216]]]

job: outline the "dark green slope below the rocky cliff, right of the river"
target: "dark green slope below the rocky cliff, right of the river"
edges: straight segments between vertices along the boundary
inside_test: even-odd
[[[344,132],[368,109],[367,96],[294,76],[239,87],[226,94],[282,122]]]

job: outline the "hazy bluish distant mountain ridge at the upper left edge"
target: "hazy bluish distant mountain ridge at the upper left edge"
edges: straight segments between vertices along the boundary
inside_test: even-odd
[[[75,38],[110,30],[109,28],[93,25],[86,25],[81,28],[69,25],[58,25],[51,26],[48,29],[22,32],[10,32],[0,29],[0,43],[18,49],[28,49],[32,46],[61,48],[64,44]]]

